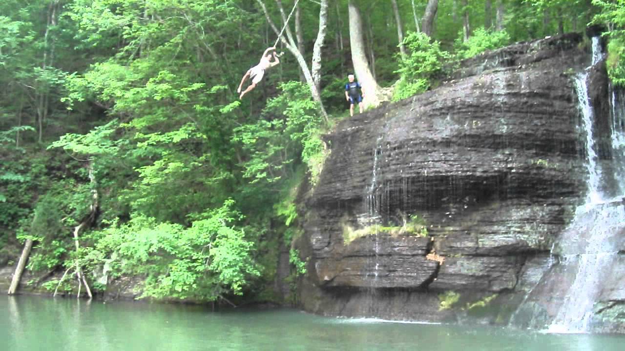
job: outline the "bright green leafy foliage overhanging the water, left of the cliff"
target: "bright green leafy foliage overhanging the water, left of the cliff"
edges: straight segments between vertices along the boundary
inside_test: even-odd
[[[215,300],[242,294],[250,277],[260,275],[251,257],[254,244],[235,222],[241,214],[227,200],[194,216],[191,227],[138,215],[92,234],[89,257],[108,262],[114,275],[145,275],[142,297]],[[97,262],[96,262],[97,263]]]

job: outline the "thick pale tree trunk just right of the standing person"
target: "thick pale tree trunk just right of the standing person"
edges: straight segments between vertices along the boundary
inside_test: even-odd
[[[349,44],[351,46],[354,72],[358,77],[364,94],[363,103],[365,106],[377,106],[380,102],[380,87],[377,85],[371,69],[369,69],[369,62],[367,62],[364,41],[362,39],[362,19],[358,7],[352,0],[349,0]]]

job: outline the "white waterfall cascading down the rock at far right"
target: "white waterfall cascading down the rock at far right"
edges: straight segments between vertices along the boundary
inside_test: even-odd
[[[592,39],[592,64],[602,58],[599,37]],[[562,234],[558,242],[560,272],[575,272],[574,280],[567,289],[562,305],[547,332],[585,333],[589,331],[594,315],[594,304],[601,293],[602,282],[609,272],[609,267],[617,257],[616,234],[625,223],[625,205],[623,190],[619,196],[606,199],[601,191],[601,166],[595,151],[592,137],[594,115],[589,103],[586,86],[587,72],[576,76],[575,86],[582,113],[582,127],[586,134],[586,169],[588,171],[586,203],[577,207],[574,219]],[[616,93],[612,93],[612,162],[617,179],[621,179],[622,156],[625,148],[625,134],[622,128],[622,111],[617,107]],[[607,167],[606,167],[607,169]],[[620,177],[620,178],[618,178]]]

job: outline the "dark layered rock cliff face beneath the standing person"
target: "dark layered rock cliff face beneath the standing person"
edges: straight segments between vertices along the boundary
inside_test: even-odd
[[[589,65],[581,41],[489,52],[432,91],[341,122],[305,200],[303,307],[507,323],[586,193],[571,79]],[[427,230],[404,230],[410,215]]]

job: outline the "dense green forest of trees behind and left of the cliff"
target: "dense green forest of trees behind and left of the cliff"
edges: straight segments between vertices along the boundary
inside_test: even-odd
[[[347,74],[373,109],[462,59],[597,25],[625,86],[625,0],[4,0],[0,14],[0,267],[24,254],[21,284],[50,292],[141,277],[151,299],[281,302],[277,257],[294,289],[301,197],[349,118]],[[276,42],[280,63],[239,99]]]

